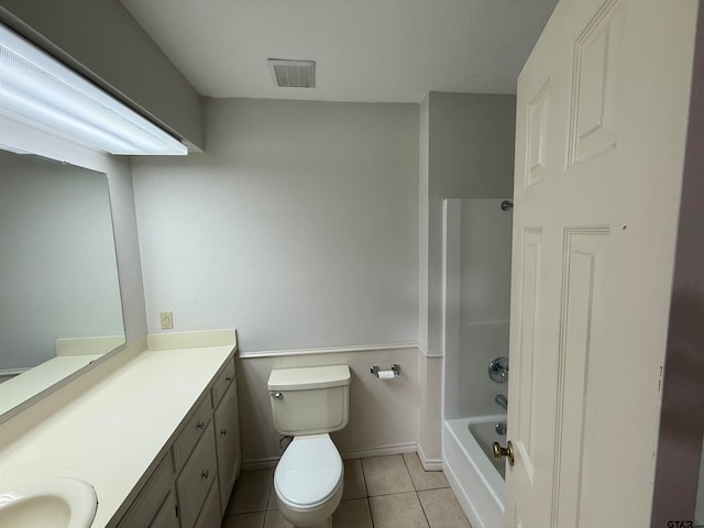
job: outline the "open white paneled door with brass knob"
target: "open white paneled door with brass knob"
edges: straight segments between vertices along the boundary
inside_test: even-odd
[[[562,0],[518,80],[506,527],[649,526],[696,0]]]

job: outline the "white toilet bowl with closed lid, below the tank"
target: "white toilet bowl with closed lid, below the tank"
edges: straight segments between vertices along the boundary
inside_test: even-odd
[[[329,527],[342,498],[343,464],[329,435],[296,437],[274,472],[282,516],[297,527]]]

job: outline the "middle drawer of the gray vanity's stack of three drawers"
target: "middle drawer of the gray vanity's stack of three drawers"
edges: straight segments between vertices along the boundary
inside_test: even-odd
[[[191,528],[211,485],[218,482],[216,446],[212,425],[198,441],[196,449],[176,479],[182,528]]]

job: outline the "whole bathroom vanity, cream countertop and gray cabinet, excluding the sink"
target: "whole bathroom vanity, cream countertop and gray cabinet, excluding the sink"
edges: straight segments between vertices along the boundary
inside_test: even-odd
[[[150,336],[0,425],[2,484],[84,480],[96,528],[219,526],[240,471],[235,351],[234,331]]]

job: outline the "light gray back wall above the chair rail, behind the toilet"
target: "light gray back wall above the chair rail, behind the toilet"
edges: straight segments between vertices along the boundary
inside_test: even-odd
[[[150,332],[244,353],[418,340],[418,107],[207,99],[208,151],[133,160]]]

